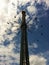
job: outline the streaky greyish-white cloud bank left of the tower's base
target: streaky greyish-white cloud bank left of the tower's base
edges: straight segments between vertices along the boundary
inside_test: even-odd
[[[14,53],[13,48],[15,48],[14,43],[11,42],[7,47],[1,45],[0,46],[0,65],[11,65],[10,63],[18,63],[20,62],[20,54]]]

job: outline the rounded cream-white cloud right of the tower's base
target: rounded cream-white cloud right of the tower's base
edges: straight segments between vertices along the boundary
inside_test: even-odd
[[[30,56],[30,65],[46,65],[46,59],[42,56],[31,55]]]

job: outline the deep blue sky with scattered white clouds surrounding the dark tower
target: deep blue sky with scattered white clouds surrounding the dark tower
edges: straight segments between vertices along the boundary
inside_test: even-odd
[[[49,0],[0,0],[0,65],[20,63],[22,10],[26,11],[30,65],[48,65]]]

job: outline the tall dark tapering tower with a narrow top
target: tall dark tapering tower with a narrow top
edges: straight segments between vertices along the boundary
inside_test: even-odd
[[[22,11],[20,65],[29,65],[27,24],[25,22],[25,11]]]

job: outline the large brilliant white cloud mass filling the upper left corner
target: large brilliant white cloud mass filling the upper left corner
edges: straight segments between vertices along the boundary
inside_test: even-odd
[[[12,5],[12,3],[15,4]],[[17,30],[18,24],[15,24],[16,18],[14,16],[17,15],[17,1],[16,0],[0,0],[0,42],[4,41],[6,38],[13,38],[12,36],[8,36],[7,32],[10,29],[13,33]],[[12,26],[13,24],[13,26]],[[6,31],[6,32],[5,32]],[[15,35],[14,35],[15,36]]]

